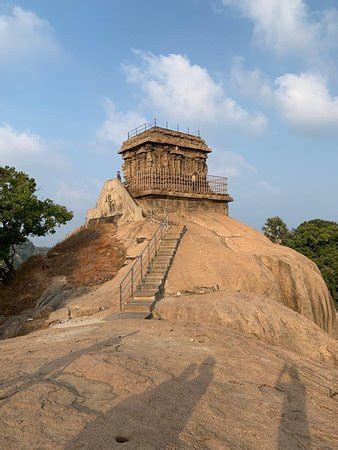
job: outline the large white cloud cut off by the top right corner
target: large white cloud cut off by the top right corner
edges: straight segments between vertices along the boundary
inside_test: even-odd
[[[320,52],[337,45],[338,10],[311,14],[304,0],[223,0],[254,23],[254,41],[278,54]]]

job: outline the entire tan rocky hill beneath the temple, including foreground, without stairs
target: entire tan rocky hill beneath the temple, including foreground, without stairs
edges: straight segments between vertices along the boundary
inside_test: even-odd
[[[45,329],[0,342],[0,447],[337,447],[335,311],[316,266],[223,215],[170,220],[187,232],[152,320],[119,313],[119,284],[156,222],[49,251],[43,292],[1,328]]]

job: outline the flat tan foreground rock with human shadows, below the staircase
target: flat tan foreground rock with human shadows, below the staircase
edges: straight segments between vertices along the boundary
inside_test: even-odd
[[[337,448],[332,367],[218,324],[84,323],[0,342],[1,448]]]

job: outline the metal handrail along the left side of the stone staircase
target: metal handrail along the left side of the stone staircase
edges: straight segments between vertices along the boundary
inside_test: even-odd
[[[120,284],[120,311],[124,309],[124,305],[133,298],[137,286],[143,281],[148,272],[151,261],[158,251],[164,233],[169,227],[168,216],[166,216],[159,224],[157,230],[148,241],[142,253],[138,255],[131,266],[130,270],[123,278]]]

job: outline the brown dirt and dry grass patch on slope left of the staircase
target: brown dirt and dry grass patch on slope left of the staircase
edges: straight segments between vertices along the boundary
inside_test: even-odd
[[[1,286],[0,314],[20,314],[33,308],[56,276],[65,276],[65,288],[98,286],[112,279],[124,265],[125,249],[112,224],[83,228],[53,247],[46,256],[23,263],[13,285]]]

